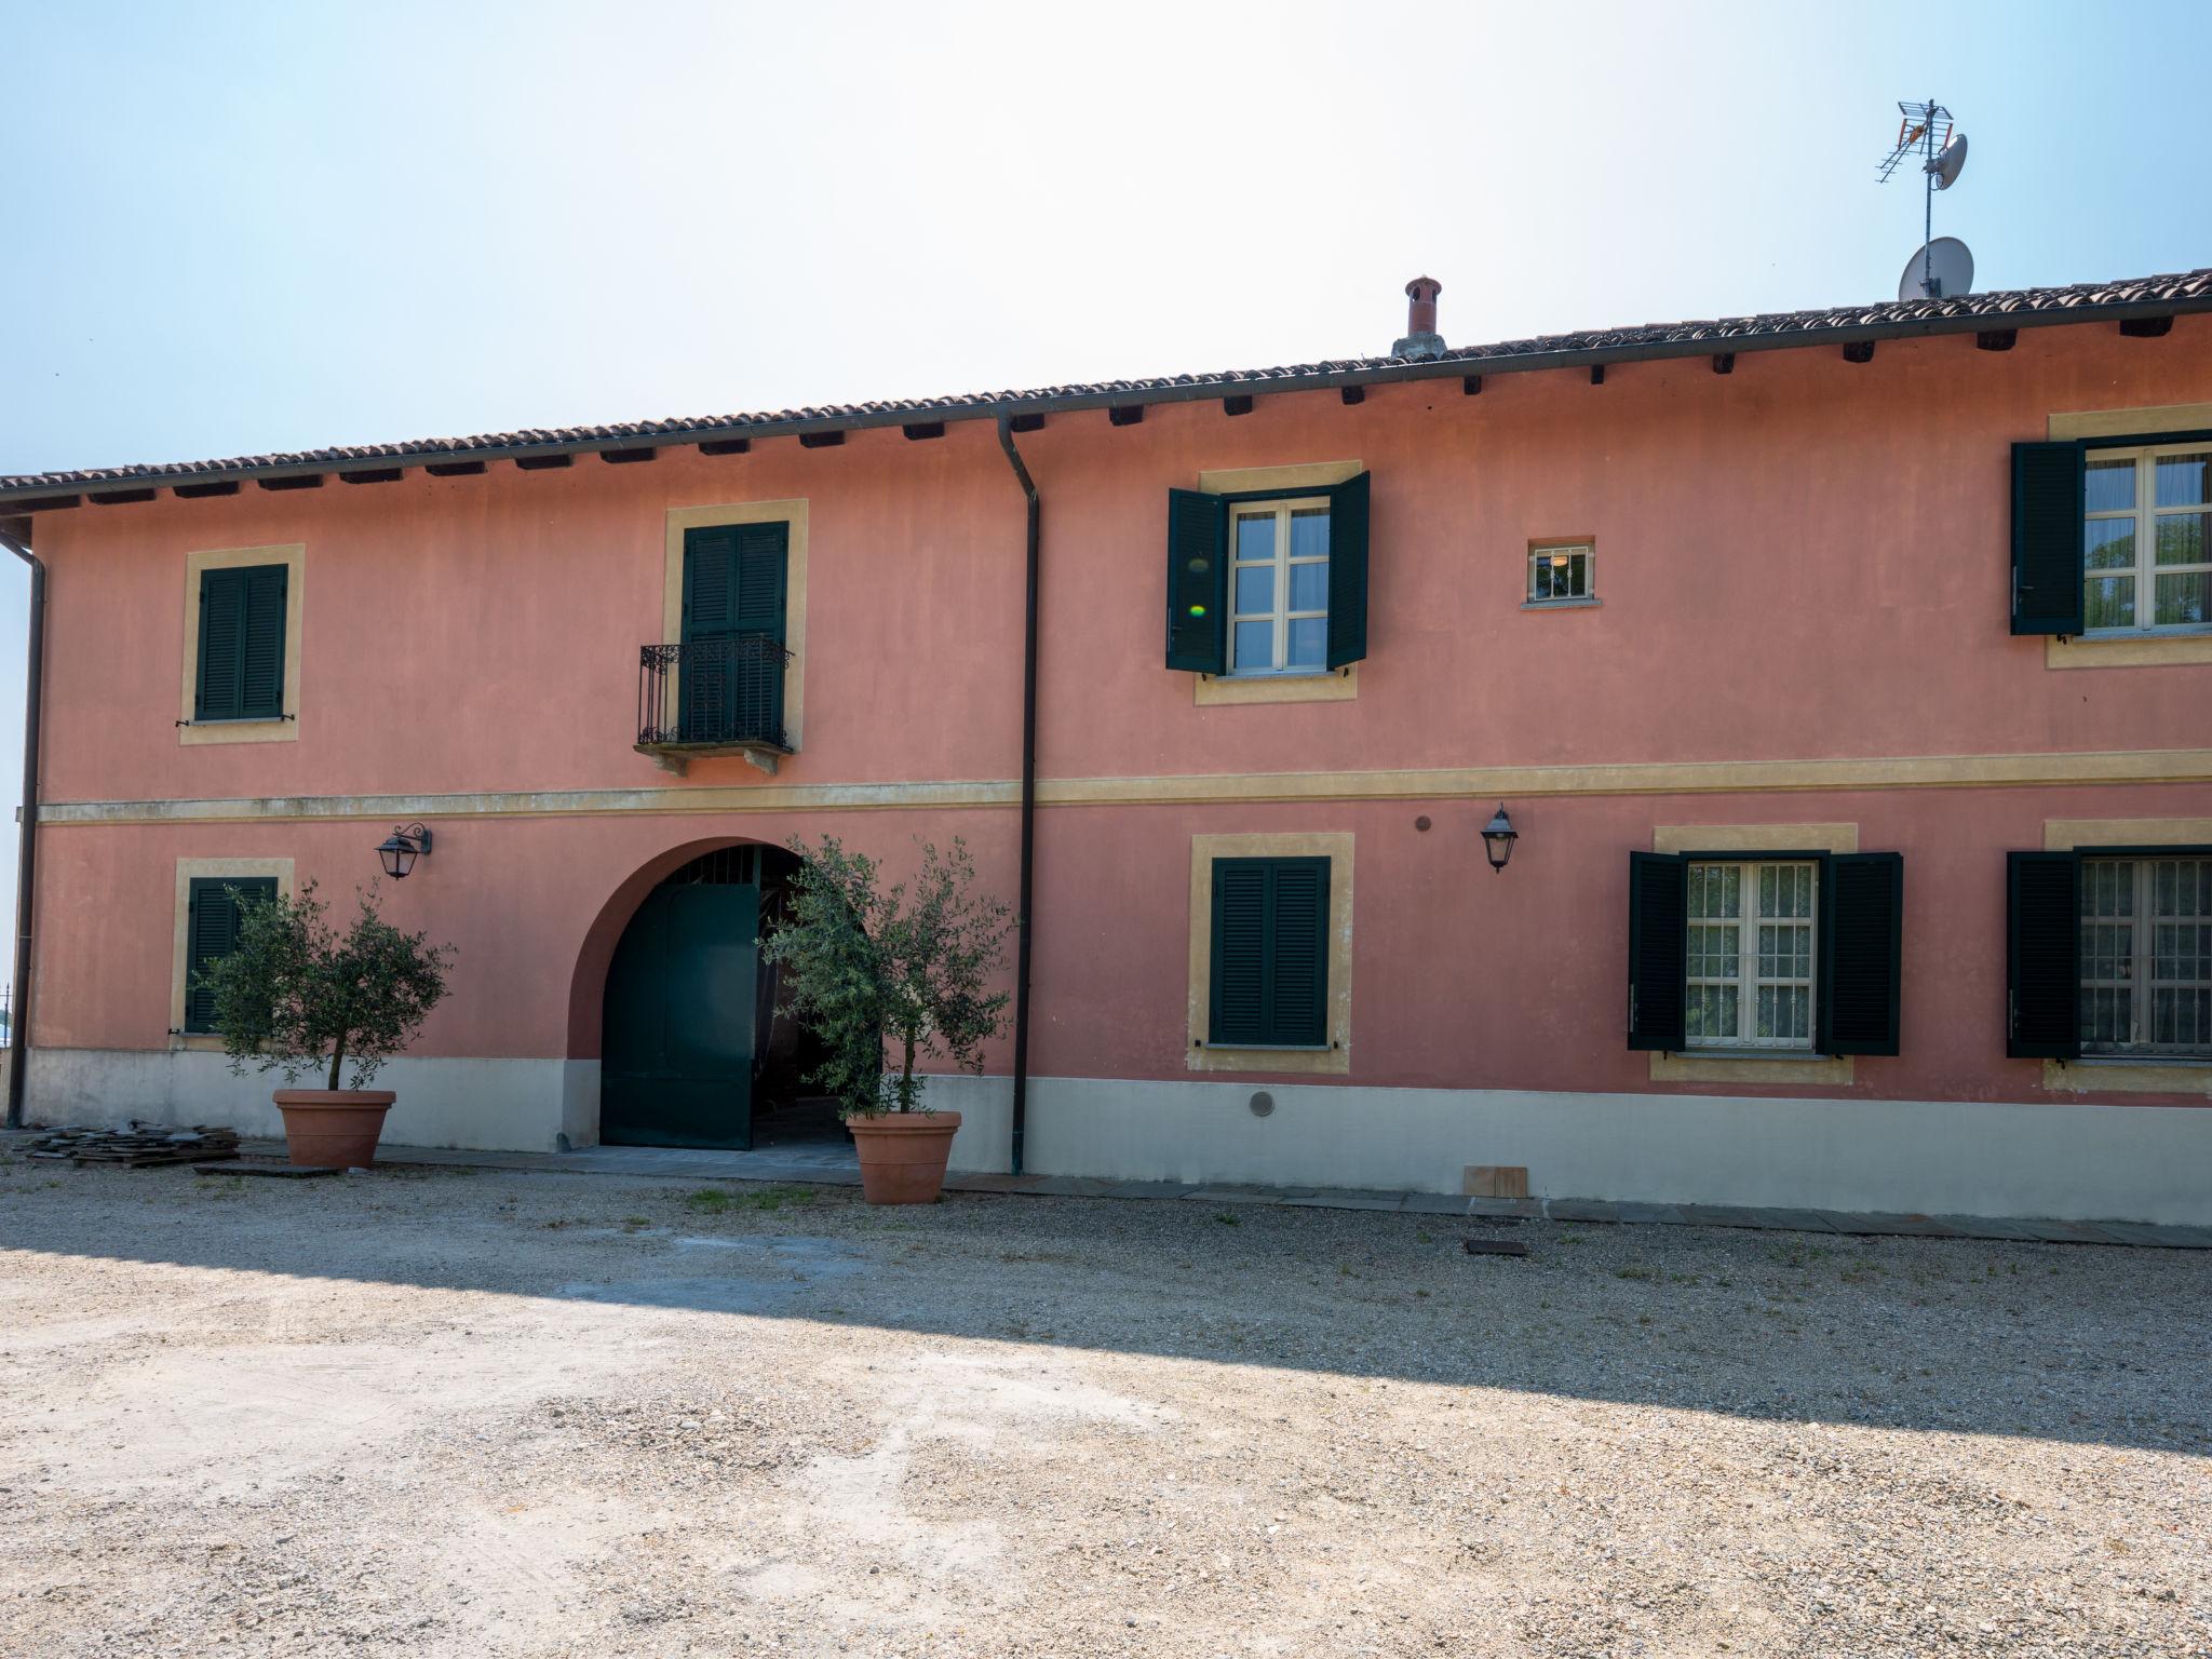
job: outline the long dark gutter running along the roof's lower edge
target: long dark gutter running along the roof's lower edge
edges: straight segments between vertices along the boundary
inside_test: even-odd
[[[1124,409],[1152,403],[1206,403],[1223,396],[1274,396],[1285,392],[1327,392],[1345,387],[1396,385],[1400,380],[1480,378],[1486,374],[1533,374],[1542,369],[1604,367],[1610,363],[1650,363],[1661,358],[1743,356],[1745,352],[1801,352],[1816,345],[1867,345],[1871,341],[1911,341],[1931,334],[1980,334],[2031,327],[2068,327],[2077,323],[2126,323],[2137,319],[2190,316],[2212,312],[2212,296],[2183,294],[2166,299],[2068,305],[2064,310],[1958,312],[1949,316],[1909,316],[1878,323],[1827,323],[1772,332],[1730,332],[1728,323],[1701,325],[1694,336],[1663,341],[1630,341],[1619,345],[1577,345],[1548,349],[1471,347],[1440,358],[1383,363],[1347,358],[1314,363],[1292,372],[1259,374],[1192,374],[1170,383],[1104,383],[1082,392],[1000,394],[973,398],[938,398],[887,403],[878,407],[830,411],[792,411],[779,416],[706,420],[706,422],[639,422],[622,431],[588,438],[538,438],[520,442],[469,445],[394,445],[365,447],[354,453],[303,453],[261,465],[184,465],[97,471],[88,478],[69,473],[22,480],[0,489],[0,504],[24,502],[22,511],[60,511],[77,507],[86,495],[131,495],[137,491],[175,489],[177,484],[226,484],[246,480],[323,478],[338,471],[378,471],[394,467],[429,467],[447,462],[540,460],[551,456],[591,456],[606,451],[672,449],[734,438],[779,438],[832,431],[867,431],[876,427],[929,427],[951,420],[1000,420],[1009,416],[1077,414],[1086,409]],[[1601,338],[1601,336],[1597,336]],[[1535,345],[1535,343],[1528,343]]]

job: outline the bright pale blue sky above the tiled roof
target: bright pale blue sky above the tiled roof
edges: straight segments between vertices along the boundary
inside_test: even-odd
[[[2201,2],[0,0],[0,473],[1374,354],[1420,272],[1455,345],[1891,299],[1900,97],[1978,288],[2212,265]]]

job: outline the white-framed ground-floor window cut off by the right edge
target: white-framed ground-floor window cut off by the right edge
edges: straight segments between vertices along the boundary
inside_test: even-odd
[[[2081,860],[2081,1053],[2212,1055],[2212,858]]]

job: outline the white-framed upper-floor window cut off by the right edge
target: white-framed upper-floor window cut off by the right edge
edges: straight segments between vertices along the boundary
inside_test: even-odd
[[[2203,628],[2212,619],[2212,445],[2090,449],[2081,491],[2086,630]]]

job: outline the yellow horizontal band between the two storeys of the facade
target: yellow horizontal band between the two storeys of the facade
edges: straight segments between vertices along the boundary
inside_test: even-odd
[[[1252,805],[1296,801],[1451,801],[1462,796],[1767,794],[1781,790],[2006,790],[2070,783],[2212,783],[2212,750],[2095,754],[1922,754],[1854,761],[1644,761],[1391,772],[1197,772],[1040,779],[1037,803]],[[947,783],[759,783],[480,794],[307,794],[204,801],[51,801],[42,825],[241,823],[312,818],[549,818],[602,812],[911,812],[1015,807],[1011,779]]]

